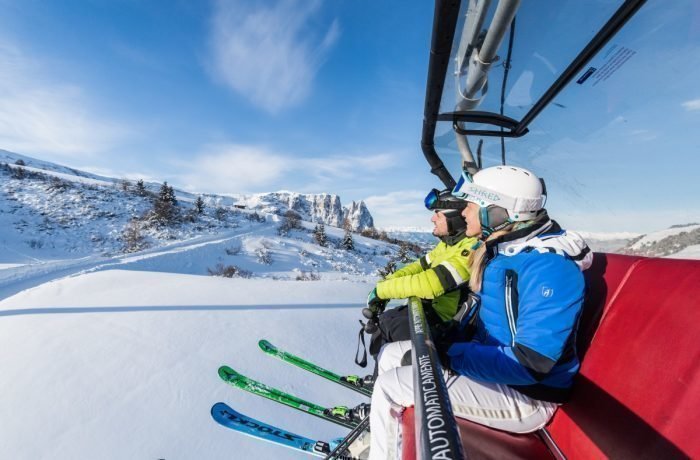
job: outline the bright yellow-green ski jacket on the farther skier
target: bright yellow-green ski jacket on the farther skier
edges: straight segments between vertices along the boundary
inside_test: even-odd
[[[463,237],[452,245],[441,241],[428,254],[378,282],[377,296],[430,299],[440,319],[452,319],[461,294],[457,287],[469,281],[468,257],[477,241],[472,237]]]

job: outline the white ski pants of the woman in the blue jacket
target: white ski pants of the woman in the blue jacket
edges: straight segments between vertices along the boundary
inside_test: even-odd
[[[409,340],[385,345],[379,353],[379,374],[372,392],[370,460],[400,459],[399,421],[404,407],[413,406],[413,370],[401,365],[411,349]],[[483,383],[464,376],[447,379],[452,410],[457,417],[512,433],[542,428],[557,404],[529,398],[507,385]]]

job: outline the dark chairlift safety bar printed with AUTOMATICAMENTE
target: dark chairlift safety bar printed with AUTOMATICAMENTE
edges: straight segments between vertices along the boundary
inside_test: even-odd
[[[411,297],[408,310],[413,344],[416,457],[462,460],[466,458],[462,441],[421,300]]]

